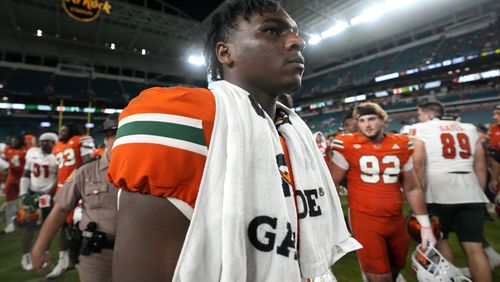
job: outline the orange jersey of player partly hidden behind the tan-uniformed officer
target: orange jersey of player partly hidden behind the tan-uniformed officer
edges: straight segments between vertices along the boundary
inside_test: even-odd
[[[94,150],[94,140],[88,135],[75,135],[65,143],[57,142],[52,149],[56,156],[59,169],[57,171],[57,186],[62,187],[66,178],[75,168],[82,164],[82,156],[91,154]]]

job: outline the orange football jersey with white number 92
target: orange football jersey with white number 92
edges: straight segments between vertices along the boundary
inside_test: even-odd
[[[360,133],[346,134],[337,136],[332,148],[348,163],[350,209],[384,217],[401,214],[400,174],[413,153],[408,136],[387,133],[373,144]]]

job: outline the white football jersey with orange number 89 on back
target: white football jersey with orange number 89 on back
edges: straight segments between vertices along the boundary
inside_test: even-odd
[[[410,136],[425,143],[427,203],[485,203],[474,172],[479,142],[476,127],[468,123],[433,119],[409,127]]]

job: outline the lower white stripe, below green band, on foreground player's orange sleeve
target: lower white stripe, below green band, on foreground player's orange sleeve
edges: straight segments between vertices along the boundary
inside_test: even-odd
[[[162,136],[155,136],[155,135],[147,135],[147,134],[135,134],[135,135],[127,135],[127,136],[122,136],[118,139],[115,140],[113,144],[113,149],[124,144],[132,144],[132,143],[149,143],[149,144],[157,144],[157,145],[163,145],[163,146],[168,146],[168,147],[173,147],[181,150],[186,150],[190,151],[193,153],[197,153],[200,155],[207,155],[207,147],[198,145],[196,143],[184,141],[184,140],[179,140],[179,139],[174,139],[174,138],[168,138],[168,137],[162,137]]]

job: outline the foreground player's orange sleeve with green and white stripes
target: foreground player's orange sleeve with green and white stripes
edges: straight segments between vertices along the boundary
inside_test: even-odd
[[[119,119],[108,168],[117,187],[180,199],[194,207],[215,118],[201,88],[150,88]]]

